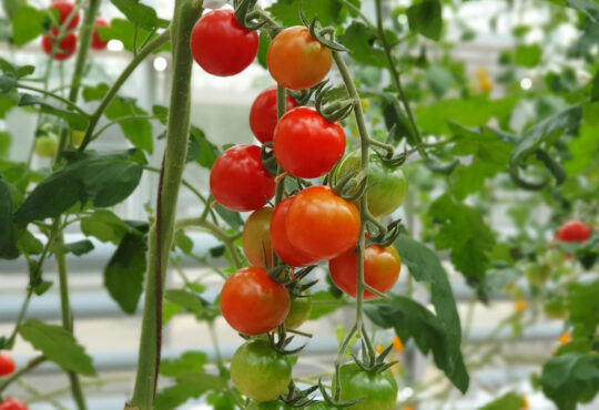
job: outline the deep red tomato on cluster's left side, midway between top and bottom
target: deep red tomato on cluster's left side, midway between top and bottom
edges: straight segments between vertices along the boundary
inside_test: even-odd
[[[219,155],[210,173],[210,191],[230,209],[255,211],[274,196],[275,178],[262,165],[260,147],[241,144]]]

